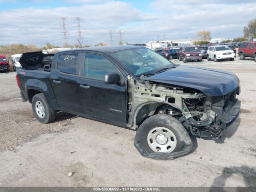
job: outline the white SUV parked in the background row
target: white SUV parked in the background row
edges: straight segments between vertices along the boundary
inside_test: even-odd
[[[229,59],[233,61],[235,58],[235,53],[228,46],[218,45],[218,46],[210,46],[207,51],[207,60],[210,61],[214,59],[214,62],[218,62],[219,60]]]

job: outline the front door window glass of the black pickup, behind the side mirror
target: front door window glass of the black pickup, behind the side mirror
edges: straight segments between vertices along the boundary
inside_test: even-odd
[[[84,76],[104,81],[105,74],[117,72],[117,68],[105,57],[95,54],[86,54]]]

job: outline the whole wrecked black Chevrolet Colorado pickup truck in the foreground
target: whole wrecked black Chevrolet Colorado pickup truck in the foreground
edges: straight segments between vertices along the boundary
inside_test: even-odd
[[[189,134],[220,138],[240,109],[234,74],[175,65],[144,47],[30,52],[20,63],[20,94],[38,121],[52,122],[64,111],[131,128],[134,145],[150,158],[187,154]]]

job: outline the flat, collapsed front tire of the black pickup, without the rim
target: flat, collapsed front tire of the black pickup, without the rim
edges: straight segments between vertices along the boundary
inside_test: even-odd
[[[155,152],[150,148],[148,144],[148,134],[156,127],[163,127],[166,130],[170,130],[175,135],[176,146],[171,152]],[[172,140],[170,138],[170,140]],[[134,145],[143,156],[147,156],[154,159],[163,159],[161,156],[170,156],[173,154],[179,154],[184,156],[192,149],[192,141],[186,128],[176,119],[169,115],[154,115],[147,118],[138,128],[134,140]],[[184,146],[189,146],[187,151],[184,150]],[[173,156],[172,156],[173,157]],[[176,158],[178,156],[175,156]]]

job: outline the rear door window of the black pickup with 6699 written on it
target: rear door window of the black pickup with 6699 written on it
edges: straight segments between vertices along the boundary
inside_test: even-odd
[[[78,53],[60,55],[57,63],[57,70],[66,74],[76,74]]]

